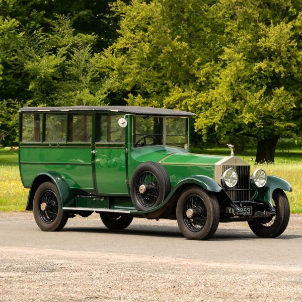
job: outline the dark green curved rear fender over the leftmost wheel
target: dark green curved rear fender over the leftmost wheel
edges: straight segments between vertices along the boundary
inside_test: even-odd
[[[54,171],[48,171],[48,172],[43,172],[38,174],[35,179],[33,180],[30,191],[28,194],[28,200],[27,200],[27,205],[26,205],[26,210],[32,210],[33,209],[33,200],[34,200],[34,195],[36,193],[36,190],[38,187],[46,181],[52,182],[58,192],[59,192],[59,197],[61,201],[61,208],[64,206],[73,206],[74,199],[71,194],[70,188],[65,182],[65,180],[62,178],[61,175],[59,175],[57,172]]]

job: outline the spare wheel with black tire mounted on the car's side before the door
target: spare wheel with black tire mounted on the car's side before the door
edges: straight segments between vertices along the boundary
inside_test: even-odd
[[[140,189],[145,191],[141,192]],[[137,210],[149,210],[158,206],[165,200],[170,190],[169,175],[160,164],[145,162],[135,169],[131,179],[130,192]]]

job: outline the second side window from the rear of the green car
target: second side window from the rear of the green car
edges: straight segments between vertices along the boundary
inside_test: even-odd
[[[66,141],[66,114],[46,114],[45,141]]]

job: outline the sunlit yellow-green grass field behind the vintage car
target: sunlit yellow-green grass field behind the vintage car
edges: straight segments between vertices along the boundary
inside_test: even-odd
[[[192,153],[230,155],[229,149],[193,149]],[[255,150],[248,150],[238,155],[245,161],[252,156],[256,157]],[[260,166],[251,164],[252,171]],[[286,192],[291,213],[302,213],[302,151],[277,151],[275,165],[261,165],[268,175],[275,175],[287,180],[293,192]],[[25,210],[29,190],[24,189],[21,183],[18,167],[18,151],[0,149],[0,211]]]

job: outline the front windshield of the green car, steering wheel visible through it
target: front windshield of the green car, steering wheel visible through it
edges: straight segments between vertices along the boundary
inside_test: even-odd
[[[188,118],[135,116],[133,146],[170,145],[188,148]]]

